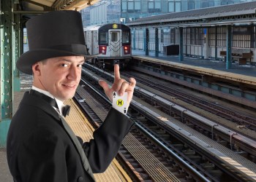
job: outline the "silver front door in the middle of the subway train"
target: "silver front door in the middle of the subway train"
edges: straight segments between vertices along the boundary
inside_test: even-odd
[[[121,31],[109,30],[110,57],[121,56]]]

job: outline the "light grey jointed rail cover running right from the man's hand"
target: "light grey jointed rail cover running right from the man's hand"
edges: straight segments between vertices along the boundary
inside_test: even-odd
[[[99,71],[97,74],[104,75],[105,79],[109,79],[112,82],[113,76],[111,74],[105,71],[102,72],[97,68],[93,69],[94,71]],[[151,87],[148,87],[148,90],[151,90]],[[142,87],[135,88],[135,95],[146,100],[147,103],[150,103],[155,108],[161,109],[165,114],[179,118],[179,121],[187,124],[189,127],[194,128],[218,143],[222,143],[222,145],[227,148],[243,155],[252,162],[255,162],[256,143],[253,135],[256,135],[256,133],[254,131],[246,130],[246,132],[250,134],[248,137],[247,133],[246,135],[239,133],[238,130],[236,130],[236,125],[234,126],[233,123],[230,123],[222,117],[214,116],[213,114],[210,116],[206,115],[205,111],[198,111],[198,108],[195,108],[195,106],[189,106],[190,109],[187,109],[187,103],[181,103],[182,101],[178,101],[173,97],[169,97],[169,100],[162,98],[162,92],[157,90],[151,90],[151,92],[144,90]],[[230,126],[226,127],[227,124],[230,124],[233,130],[232,128],[230,129]]]

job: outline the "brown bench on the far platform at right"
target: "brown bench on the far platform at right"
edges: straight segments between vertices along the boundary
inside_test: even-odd
[[[226,51],[220,51],[219,52],[220,56],[224,56],[226,60],[227,52]],[[251,62],[252,58],[252,51],[248,49],[231,49],[231,57],[232,58],[238,58],[238,63],[239,65],[245,65],[247,59]]]

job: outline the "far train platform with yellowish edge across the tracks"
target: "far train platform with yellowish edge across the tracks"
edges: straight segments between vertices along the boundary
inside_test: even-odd
[[[155,60],[164,60],[165,63],[169,63],[170,65],[173,64],[173,66],[184,66],[187,69],[195,69],[198,71],[209,71],[211,74],[214,73],[219,76],[227,76],[227,74],[230,74],[230,76],[235,76],[237,79],[239,79],[239,76],[236,76],[235,74],[240,74],[244,76],[249,76],[248,79],[253,82],[256,79],[254,78],[256,76],[256,66],[252,65],[239,65],[237,62],[232,63],[232,66],[230,69],[226,69],[226,63],[223,60],[206,60],[201,58],[191,58],[191,57],[185,57],[183,61],[178,60],[178,55],[163,55],[159,52],[159,57],[155,56],[155,52],[148,52],[148,55],[146,55],[146,52],[143,50],[132,50],[132,56],[134,58],[153,58]],[[166,62],[167,61],[167,62]],[[203,68],[203,70],[202,70]],[[204,70],[206,69],[206,70]],[[211,70],[210,70],[211,69]]]

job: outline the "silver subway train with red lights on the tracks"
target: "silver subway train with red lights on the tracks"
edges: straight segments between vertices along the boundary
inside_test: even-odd
[[[113,68],[119,63],[126,68],[132,58],[131,30],[127,25],[108,23],[84,28],[86,47],[89,54],[96,55],[89,60],[99,68]]]

